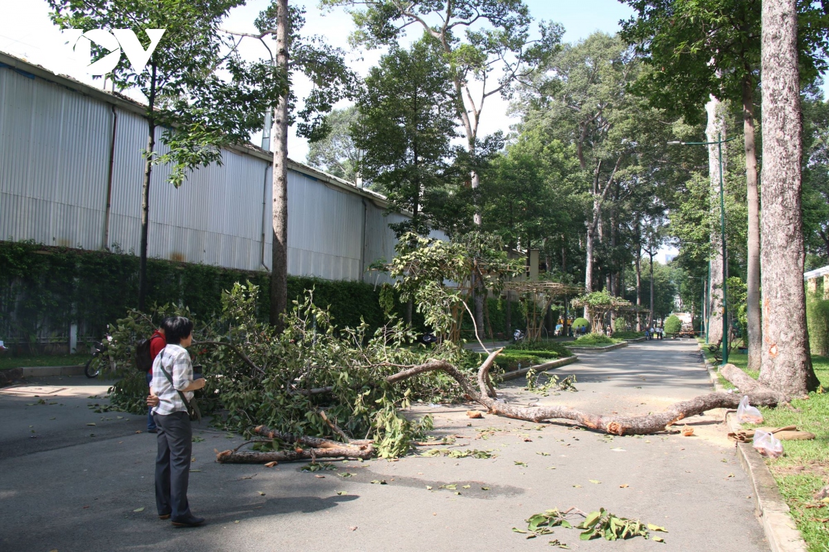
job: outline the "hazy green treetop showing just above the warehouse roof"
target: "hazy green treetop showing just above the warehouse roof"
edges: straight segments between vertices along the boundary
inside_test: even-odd
[[[323,122],[331,130],[321,140],[308,146],[308,165],[349,182],[356,182],[361,150],[351,137],[351,127],[359,120],[356,106],[334,109]]]

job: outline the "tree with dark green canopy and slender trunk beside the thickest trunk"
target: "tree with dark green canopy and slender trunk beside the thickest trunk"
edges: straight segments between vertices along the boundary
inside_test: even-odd
[[[654,70],[642,73],[638,92],[654,105],[701,115],[711,96],[743,107],[745,179],[748,199],[749,368],[759,369],[761,324],[760,219],[754,96],[760,84],[760,0],[626,0],[638,12],[622,23],[622,36]],[[797,34],[801,79],[827,67],[829,13],[799,0]]]

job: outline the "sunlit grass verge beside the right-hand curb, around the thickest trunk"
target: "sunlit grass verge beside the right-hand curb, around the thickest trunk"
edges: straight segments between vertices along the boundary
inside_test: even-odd
[[[716,364],[705,343],[702,343],[702,350],[706,358]],[[744,353],[731,353],[729,362],[745,370],[748,358]],[[829,357],[812,357],[812,365],[823,387],[829,388]],[[746,370],[746,373],[754,378],[759,376],[758,372]],[[734,388],[721,376],[720,382],[727,388]],[[761,406],[763,425],[797,425],[798,430],[810,431],[816,439],[783,441],[783,457],[767,458],[766,464],[792,510],[809,552],[829,552],[829,504],[812,498],[818,489],[829,483],[829,393],[811,393],[808,399],[793,400],[792,406],[795,410]]]

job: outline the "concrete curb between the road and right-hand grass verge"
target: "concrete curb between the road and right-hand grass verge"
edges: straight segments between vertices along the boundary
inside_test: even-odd
[[[700,347],[700,350],[702,348]],[[716,367],[703,355],[703,362],[708,369],[711,382],[717,391],[725,391],[717,376]],[[742,426],[733,413],[725,416],[730,430],[739,430]],[[751,479],[754,491],[754,513],[759,518],[760,526],[768,540],[772,552],[807,552],[806,541],[797,530],[790,514],[788,504],[783,500],[777,482],[764,459],[750,443],[737,443],[737,457],[743,471]]]

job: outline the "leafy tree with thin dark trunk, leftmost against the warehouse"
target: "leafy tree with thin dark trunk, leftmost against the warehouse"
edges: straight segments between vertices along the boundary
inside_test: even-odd
[[[180,186],[197,167],[221,163],[221,146],[246,142],[261,127],[266,108],[286,89],[284,73],[225,55],[219,31],[230,8],[242,0],[49,0],[52,21],[62,29],[130,29],[146,49],[147,29],[165,29],[161,43],[141,72],[122,58],[109,79],[119,89],[137,89],[147,98],[147,148],[141,201],[138,309],[147,297],[149,198],[153,166],[172,165],[170,181]],[[100,59],[108,52],[95,46]],[[259,83],[269,88],[259,90]],[[157,150],[161,142],[169,151]]]

